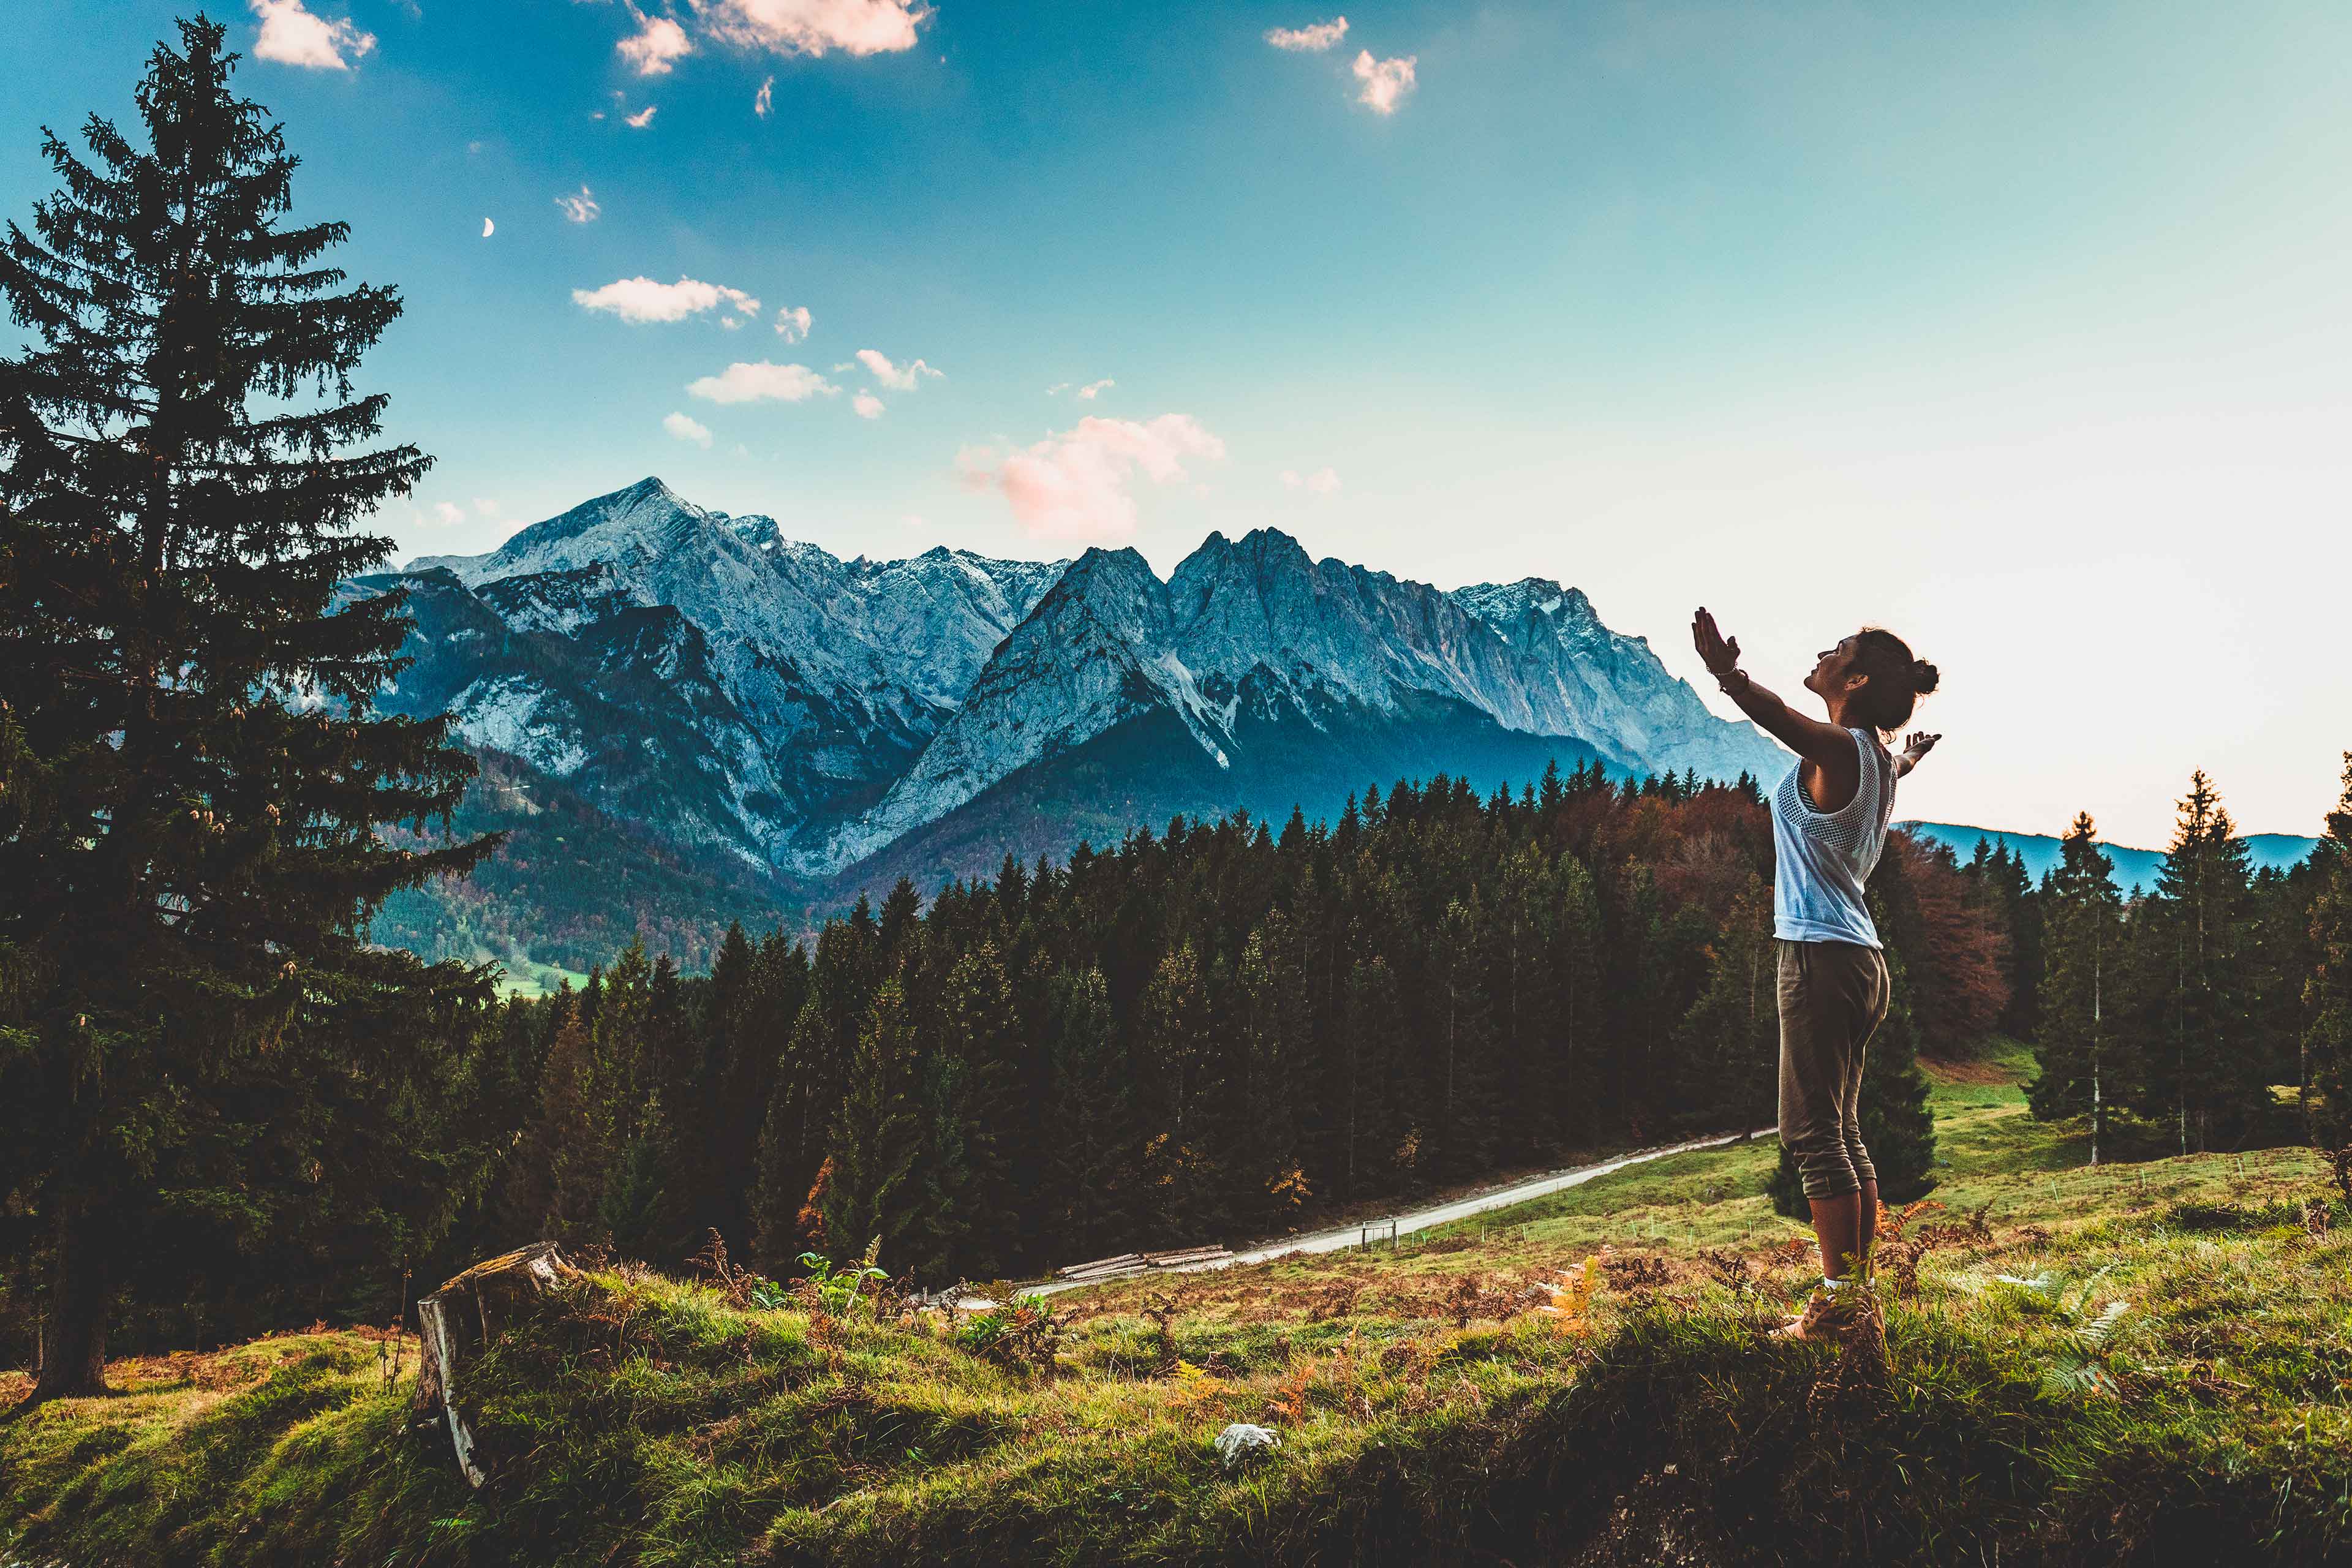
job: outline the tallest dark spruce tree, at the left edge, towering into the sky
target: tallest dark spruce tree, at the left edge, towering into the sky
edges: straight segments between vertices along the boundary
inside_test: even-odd
[[[343,223],[285,223],[296,160],[230,92],[221,28],[179,42],[139,82],[139,141],[94,115],[85,160],[47,134],[64,188],[0,247],[26,336],[0,360],[0,705],[21,738],[0,1187],[45,1229],[35,1396],[103,1387],[151,1173],[195,1121],[249,1117],[261,1053],[397,1079],[421,1058],[379,1025],[480,983],[362,940],[386,896],[487,851],[376,837],[447,825],[473,762],[445,719],[369,717],[402,595],[336,602],[390,550],[358,524],[428,465],[369,447],[383,397],[350,390],[400,299],[322,263]],[[266,1180],[266,1147],[207,1180]]]

